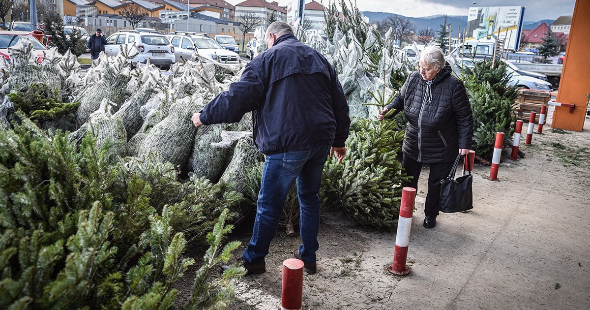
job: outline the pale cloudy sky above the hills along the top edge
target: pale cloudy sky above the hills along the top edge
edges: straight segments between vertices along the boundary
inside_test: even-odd
[[[238,4],[244,0],[226,0]],[[277,1],[285,6],[291,0]],[[587,1],[587,0],[579,0]],[[293,0],[297,2],[297,0]],[[306,3],[310,0],[306,0]],[[322,0],[316,0],[322,3]],[[348,1],[346,1],[348,2]],[[438,14],[467,15],[473,0],[357,0],[360,11],[389,12],[407,17],[424,17]],[[324,5],[329,3],[323,1]],[[557,19],[561,15],[572,15],[575,0],[480,0],[474,6],[525,6],[525,21]]]

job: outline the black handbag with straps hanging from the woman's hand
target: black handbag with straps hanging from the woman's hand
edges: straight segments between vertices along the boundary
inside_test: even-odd
[[[455,169],[457,163],[461,159],[461,154],[455,159],[455,164],[451,169],[447,178],[441,180],[441,195],[440,206],[444,213],[454,213],[473,209],[473,190],[471,184],[473,183],[473,175],[471,175],[471,167],[468,167],[469,174],[465,174],[455,179]],[[471,164],[467,160],[467,165]]]

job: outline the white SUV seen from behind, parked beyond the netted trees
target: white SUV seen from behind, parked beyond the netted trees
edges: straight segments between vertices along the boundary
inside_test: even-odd
[[[131,61],[133,66],[137,63],[148,62],[162,68],[169,68],[176,59],[174,47],[168,38],[161,34],[144,33],[135,30],[119,31],[107,38],[104,51],[107,55],[116,56],[123,45],[131,47],[136,45],[139,54]]]

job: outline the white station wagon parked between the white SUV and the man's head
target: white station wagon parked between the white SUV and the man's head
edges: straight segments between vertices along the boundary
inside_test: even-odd
[[[173,34],[167,36],[176,48],[176,61],[186,61],[192,58],[193,53],[199,53],[202,57],[218,61],[219,63],[238,63],[240,56],[232,51],[225,50],[213,39],[203,35]]]

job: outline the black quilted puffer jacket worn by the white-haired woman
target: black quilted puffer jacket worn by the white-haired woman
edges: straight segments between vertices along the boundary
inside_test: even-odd
[[[459,149],[471,149],[473,137],[473,113],[465,86],[451,76],[447,64],[432,81],[430,92],[428,88],[416,71],[386,108],[404,110],[408,119],[404,154],[428,164],[453,162]]]

